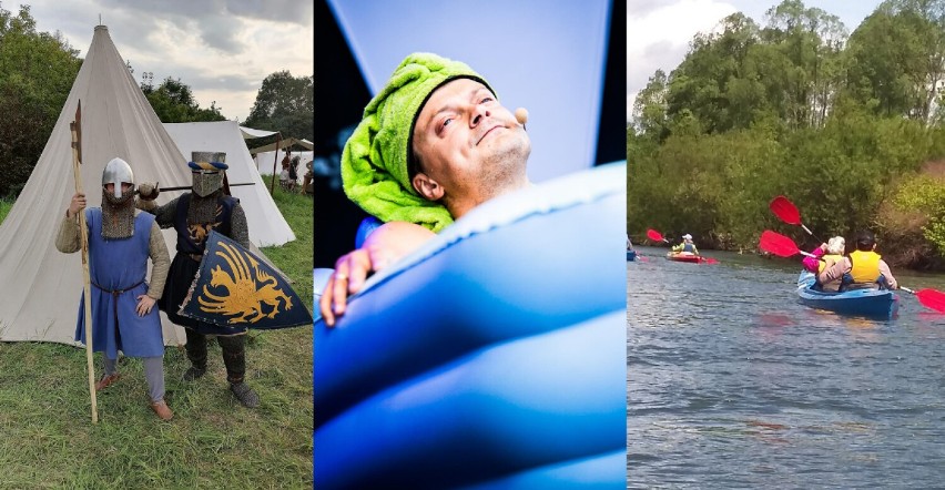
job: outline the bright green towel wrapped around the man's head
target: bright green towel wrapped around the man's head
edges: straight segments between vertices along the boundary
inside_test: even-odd
[[[385,223],[416,223],[434,232],[453,223],[443,204],[427,201],[414,190],[407,159],[414,121],[424,102],[457,78],[489,86],[465,63],[436,54],[413,53],[400,62],[364,108],[364,118],[345,144],[342,181],[349,200]]]

